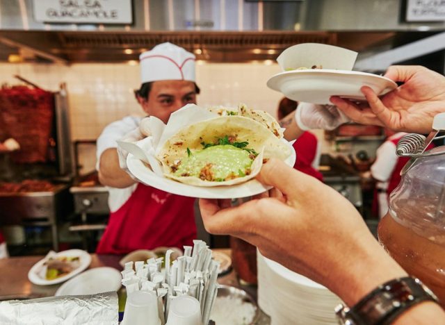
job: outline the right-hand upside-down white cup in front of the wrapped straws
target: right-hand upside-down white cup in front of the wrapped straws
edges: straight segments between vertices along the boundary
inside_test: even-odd
[[[199,301],[187,295],[175,297],[170,303],[165,325],[201,325]]]

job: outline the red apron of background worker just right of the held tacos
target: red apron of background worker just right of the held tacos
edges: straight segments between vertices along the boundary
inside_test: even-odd
[[[293,142],[293,149],[297,154],[297,160],[293,168],[299,170],[302,173],[308,174],[323,181],[323,175],[312,167],[312,162],[316,156],[317,150],[317,138],[310,132],[303,132],[300,137]]]

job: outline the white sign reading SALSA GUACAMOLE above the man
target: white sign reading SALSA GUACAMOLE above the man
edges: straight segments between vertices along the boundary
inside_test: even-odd
[[[131,0],[33,0],[38,22],[131,24]]]

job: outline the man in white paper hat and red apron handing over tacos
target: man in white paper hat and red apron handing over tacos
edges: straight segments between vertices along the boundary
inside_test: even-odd
[[[142,85],[136,99],[144,112],[164,123],[187,103],[195,103],[195,56],[163,43],[140,55]],[[106,126],[97,139],[99,180],[109,188],[111,215],[97,253],[124,254],[136,249],[183,247],[193,244],[195,199],[181,197],[133,180],[116,140],[139,140],[148,135],[141,119],[124,117]],[[144,135],[145,133],[145,135]]]

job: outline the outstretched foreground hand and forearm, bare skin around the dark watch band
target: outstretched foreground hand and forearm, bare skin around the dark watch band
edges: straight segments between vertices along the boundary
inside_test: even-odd
[[[270,196],[237,207],[226,200],[200,199],[207,231],[254,244],[267,258],[325,285],[348,306],[378,285],[406,276],[354,206],[332,188],[274,159],[257,177],[274,186]],[[421,303],[399,317],[398,324],[444,321],[437,304]]]

